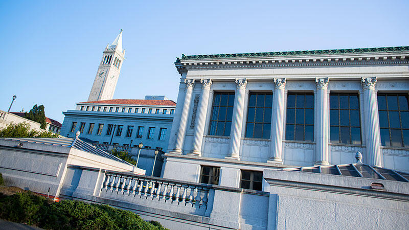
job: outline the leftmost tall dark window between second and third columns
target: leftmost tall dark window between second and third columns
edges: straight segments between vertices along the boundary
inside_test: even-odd
[[[230,129],[232,127],[233,105],[234,93],[214,94],[209,135],[230,135]]]

